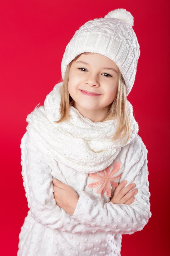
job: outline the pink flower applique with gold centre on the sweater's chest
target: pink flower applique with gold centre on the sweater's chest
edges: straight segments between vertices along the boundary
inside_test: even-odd
[[[99,189],[97,189],[96,193],[97,194],[101,193],[101,197],[103,197],[103,194],[106,191],[107,192],[106,196],[107,197],[111,197],[111,187],[110,187],[110,184],[112,185],[112,187],[116,188],[118,186],[118,182],[114,181],[114,179],[119,179],[122,174],[119,174],[118,176],[114,176],[114,177],[112,177],[112,176],[116,172],[118,172],[118,170],[120,169],[120,166],[121,166],[121,163],[120,162],[116,162],[114,164],[112,170],[110,170],[111,166],[108,166],[107,168],[105,168],[102,171],[88,174],[88,176],[90,178],[98,179],[99,180],[99,181],[96,181],[94,183],[90,183],[88,185],[88,187],[89,188],[94,188],[94,187],[98,187],[101,184]]]

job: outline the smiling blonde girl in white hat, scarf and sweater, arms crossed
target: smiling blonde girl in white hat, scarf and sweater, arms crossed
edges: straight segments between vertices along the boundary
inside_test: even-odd
[[[21,140],[29,211],[17,256],[120,255],[151,217],[147,152],[126,96],[140,55],[125,9],[86,22],[67,45],[63,81]]]

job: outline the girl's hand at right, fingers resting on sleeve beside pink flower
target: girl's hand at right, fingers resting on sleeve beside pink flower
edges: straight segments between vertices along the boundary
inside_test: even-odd
[[[127,181],[126,181],[126,183],[124,183],[124,181],[122,181],[116,187],[114,194],[111,197],[110,202],[112,202],[114,204],[125,204],[125,205],[130,205],[133,203],[133,201],[135,200],[135,197],[133,197],[133,195],[136,195],[138,190],[133,189],[134,187],[136,187],[135,183],[131,183],[124,188],[124,186],[126,184],[127,184]],[[131,185],[134,185],[133,188],[131,187]],[[131,189],[133,189],[133,190],[130,191]],[[128,191],[130,191],[130,192],[128,193]]]

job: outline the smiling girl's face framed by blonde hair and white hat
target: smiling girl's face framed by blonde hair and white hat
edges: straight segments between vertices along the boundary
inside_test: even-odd
[[[114,61],[104,55],[82,53],[69,71],[68,90],[74,108],[92,121],[103,119],[116,97],[118,70]]]

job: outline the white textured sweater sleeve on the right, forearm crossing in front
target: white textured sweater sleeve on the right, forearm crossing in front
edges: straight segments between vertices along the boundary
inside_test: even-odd
[[[132,182],[136,184],[135,188],[138,192],[134,195],[135,200],[132,204],[113,204],[111,201],[105,203],[103,198],[94,199],[86,191],[81,191],[72,218],[91,226],[93,232],[133,234],[142,230],[152,215],[149,202],[147,153],[143,141],[138,137],[129,146],[126,154],[126,167],[120,182],[126,179],[128,181],[126,186]]]

